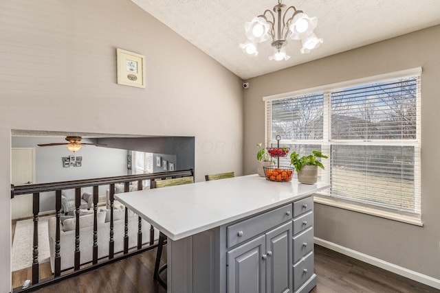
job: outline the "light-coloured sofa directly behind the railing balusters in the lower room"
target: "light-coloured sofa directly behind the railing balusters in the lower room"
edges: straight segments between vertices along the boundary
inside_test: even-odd
[[[110,211],[109,209],[98,209],[98,259],[109,255],[110,235]],[[114,253],[124,250],[124,219],[125,209],[122,205],[113,209],[113,241]],[[60,255],[61,270],[74,267],[75,255],[75,226],[74,216],[62,216],[60,224]],[[137,246],[137,224],[138,218],[135,213],[129,211],[129,248]],[[55,235],[56,217],[48,222],[49,244],[50,244],[50,268],[55,270]],[[142,220],[142,244],[150,242],[150,224]],[[155,229],[154,239],[158,239],[159,231]],[[80,263],[88,263],[93,260],[94,244],[94,213],[93,211],[80,210]]]

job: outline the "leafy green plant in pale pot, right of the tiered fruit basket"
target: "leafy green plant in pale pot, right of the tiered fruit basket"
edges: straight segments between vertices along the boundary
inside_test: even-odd
[[[314,184],[318,180],[318,167],[324,169],[324,165],[318,158],[327,159],[328,156],[314,150],[309,156],[300,157],[296,152],[290,154],[290,163],[294,165],[296,172],[298,173],[298,181],[300,183]]]

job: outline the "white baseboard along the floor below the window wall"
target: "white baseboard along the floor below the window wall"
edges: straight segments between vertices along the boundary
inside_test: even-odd
[[[383,268],[384,270],[388,270],[389,272],[394,272],[395,274],[399,274],[408,279],[431,286],[433,288],[440,289],[439,279],[429,277],[426,274],[421,274],[413,270],[408,270],[407,268],[403,268],[401,266],[396,266],[393,263],[388,263],[388,261],[377,259],[376,257],[371,257],[370,255],[365,255],[364,253],[360,253],[358,251],[352,250],[344,246],[340,246],[339,244],[335,244],[333,242],[320,239],[318,237],[314,237],[314,239],[315,239],[315,244],[318,244],[325,248],[329,248],[330,250],[334,250],[338,253],[342,253],[342,255],[353,257],[353,259],[364,261],[365,263],[369,263],[373,266],[377,266],[378,268]]]

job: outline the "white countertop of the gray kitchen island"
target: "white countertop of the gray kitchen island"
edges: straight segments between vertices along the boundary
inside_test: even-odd
[[[115,199],[172,240],[227,224],[329,187],[258,175],[115,194]]]

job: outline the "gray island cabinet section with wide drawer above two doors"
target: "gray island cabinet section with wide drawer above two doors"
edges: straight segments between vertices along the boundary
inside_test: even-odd
[[[291,219],[288,204],[228,226],[228,293],[293,292]]]

